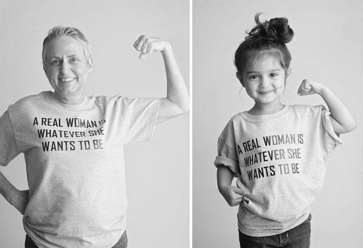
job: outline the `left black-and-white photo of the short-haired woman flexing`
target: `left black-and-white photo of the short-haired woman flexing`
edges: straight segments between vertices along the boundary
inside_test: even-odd
[[[0,18],[0,247],[188,247],[189,2]]]

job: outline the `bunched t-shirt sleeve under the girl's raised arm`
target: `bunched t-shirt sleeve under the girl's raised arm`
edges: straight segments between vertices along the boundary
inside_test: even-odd
[[[343,145],[344,142],[341,140],[339,135],[337,135],[333,130],[333,125],[330,121],[330,111],[325,109],[324,106],[321,108],[321,129],[320,132],[320,142],[321,147],[325,151],[325,155],[330,159],[337,146]]]

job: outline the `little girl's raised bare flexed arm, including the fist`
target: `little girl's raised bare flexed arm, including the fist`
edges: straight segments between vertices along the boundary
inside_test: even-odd
[[[319,94],[324,99],[331,112],[329,118],[335,133],[349,133],[356,128],[356,120],[349,109],[327,86],[312,80],[304,79],[300,84],[297,94]]]

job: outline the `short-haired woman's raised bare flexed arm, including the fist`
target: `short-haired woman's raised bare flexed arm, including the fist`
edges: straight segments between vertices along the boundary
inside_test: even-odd
[[[157,123],[188,112],[188,91],[170,43],[162,38],[141,35],[135,41],[134,47],[141,52],[140,59],[157,51],[163,55],[167,75],[167,97],[161,99]]]

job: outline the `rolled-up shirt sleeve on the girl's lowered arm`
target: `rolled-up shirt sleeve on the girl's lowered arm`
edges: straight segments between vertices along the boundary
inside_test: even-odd
[[[218,138],[217,154],[214,165],[227,166],[231,169],[235,176],[238,177],[241,174],[241,170],[238,163],[238,155],[236,151],[236,144],[234,139],[233,123],[228,122],[227,126],[222,131]]]

